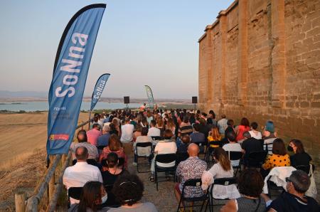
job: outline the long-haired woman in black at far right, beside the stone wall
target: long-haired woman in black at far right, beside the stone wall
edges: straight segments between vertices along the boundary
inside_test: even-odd
[[[304,152],[304,144],[298,139],[292,139],[289,142],[288,151],[294,152],[294,154],[290,156],[290,163],[294,167],[307,166],[312,160],[310,155]]]

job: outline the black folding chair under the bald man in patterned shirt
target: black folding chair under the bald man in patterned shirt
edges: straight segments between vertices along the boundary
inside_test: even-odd
[[[182,192],[181,192],[181,198],[180,201],[178,203],[178,208],[177,208],[177,212],[179,211],[179,209],[181,208],[180,205],[181,203],[183,203],[183,210],[186,211],[186,208],[190,208],[190,207],[194,207],[193,206],[186,206],[185,202],[195,202],[195,201],[203,201],[201,205],[196,205],[196,206],[201,206],[200,211],[202,211],[203,205],[206,201],[208,201],[208,195],[206,194],[205,191],[203,191],[203,195],[202,196],[198,196],[198,197],[186,197],[185,196],[185,189],[186,187],[195,187],[196,189],[199,189],[200,191],[202,191],[201,189],[201,179],[188,179],[182,187]]]

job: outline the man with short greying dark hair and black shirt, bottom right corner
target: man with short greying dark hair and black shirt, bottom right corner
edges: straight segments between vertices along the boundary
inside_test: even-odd
[[[287,181],[287,192],[282,193],[269,206],[269,211],[290,211],[290,212],[316,212],[320,211],[319,205],[314,198],[304,196],[304,193],[309,189],[310,179],[308,174],[302,170],[292,171],[292,174]],[[266,198],[266,202],[270,198]]]

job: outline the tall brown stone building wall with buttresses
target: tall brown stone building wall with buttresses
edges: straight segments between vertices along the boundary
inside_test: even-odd
[[[272,120],[319,161],[320,0],[235,0],[198,42],[198,107]]]

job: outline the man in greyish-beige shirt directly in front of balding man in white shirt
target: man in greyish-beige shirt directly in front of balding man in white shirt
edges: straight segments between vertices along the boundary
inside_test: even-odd
[[[87,148],[87,152],[89,154],[89,157],[87,159],[99,159],[99,154],[97,147],[95,145],[90,144],[87,142],[87,134],[85,132],[85,129],[80,129],[77,134],[78,143],[72,142],[70,145],[70,151],[71,154],[73,154],[73,160],[75,159],[75,149],[78,147],[85,147]]]

